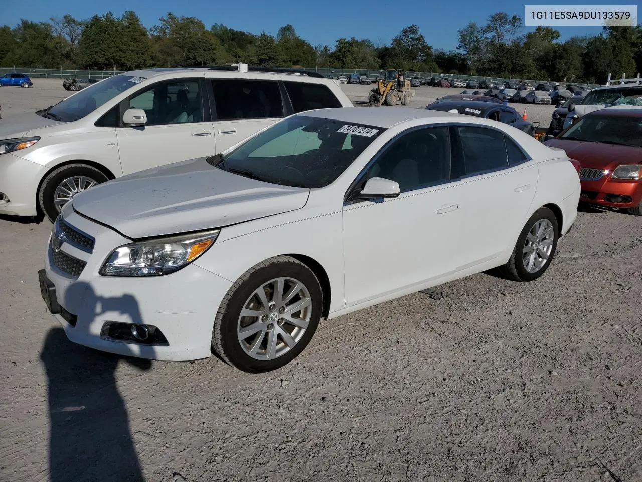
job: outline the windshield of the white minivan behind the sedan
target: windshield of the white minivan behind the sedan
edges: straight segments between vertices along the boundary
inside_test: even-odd
[[[105,102],[109,102],[118,94],[135,87],[145,80],[141,77],[130,75],[114,75],[106,78],[101,82],[96,82],[89,87],[85,87],[77,94],[66,98],[62,102],[56,103],[53,107],[40,113],[41,116],[59,120],[74,121],[94,112]],[[86,82],[81,79],[79,82]]]

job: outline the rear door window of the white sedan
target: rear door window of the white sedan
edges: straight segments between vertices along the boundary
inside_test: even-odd
[[[508,157],[504,134],[487,127],[460,126],[466,175],[506,168]]]

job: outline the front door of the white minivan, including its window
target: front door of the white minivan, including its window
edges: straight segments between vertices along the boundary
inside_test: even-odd
[[[125,175],[216,153],[198,78],[152,85],[126,100],[121,112],[126,109],[143,109],[147,123],[116,129]]]

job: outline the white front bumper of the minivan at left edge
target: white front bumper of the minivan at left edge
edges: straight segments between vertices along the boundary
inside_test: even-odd
[[[14,156],[0,154],[0,214],[8,216],[37,215],[36,196],[45,166]],[[8,201],[6,201],[8,199]]]

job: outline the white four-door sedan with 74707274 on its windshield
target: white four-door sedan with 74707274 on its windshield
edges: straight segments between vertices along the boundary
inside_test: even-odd
[[[494,267],[539,278],[579,197],[575,161],[503,123],[311,111],[76,195],[40,288],[76,343],[268,371],[321,319]]]

